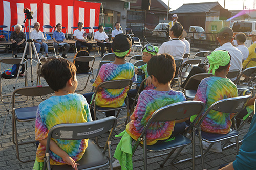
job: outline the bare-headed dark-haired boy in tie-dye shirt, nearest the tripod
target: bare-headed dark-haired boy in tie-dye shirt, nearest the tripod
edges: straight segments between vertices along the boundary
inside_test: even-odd
[[[33,169],[42,169],[49,130],[60,123],[92,121],[89,105],[82,95],[75,94],[77,87],[76,67],[65,59],[54,59],[42,67],[42,76],[54,90],[54,96],[41,102],[35,121],[35,139],[40,142]],[[88,146],[88,139],[50,141],[50,164],[72,165],[77,169]]]

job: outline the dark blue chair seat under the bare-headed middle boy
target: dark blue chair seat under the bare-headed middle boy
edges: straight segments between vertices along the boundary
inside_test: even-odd
[[[181,147],[182,145],[188,145],[191,143],[191,140],[186,138],[185,136],[178,134],[175,136],[175,140],[163,142],[160,144],[154,145],[147,145],[147,150],[154,152],[154,151],[164,151],[167,149],[172,149],[176,147]]]

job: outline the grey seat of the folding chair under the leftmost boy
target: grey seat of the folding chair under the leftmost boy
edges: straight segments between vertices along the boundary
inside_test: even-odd
[[[109,159],[102,154],[102,152],[92,140],[89,140],[86,152],[84,153],[83,157],[76,163],[80,164],[77,166],[78,169],[88,169],[97,165],[97,168],[100,168],[108,165]],[[53,170],[73,169],[70,165],[52,165],[51,167]]]

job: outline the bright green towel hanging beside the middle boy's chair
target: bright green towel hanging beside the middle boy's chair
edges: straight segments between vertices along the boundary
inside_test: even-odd
[[[116,147],[114,158],[119,160],[122,170],[123,169],[133,169],[133,152],[132,152],[132,138],[124,130],[115,137],[123,136]]]

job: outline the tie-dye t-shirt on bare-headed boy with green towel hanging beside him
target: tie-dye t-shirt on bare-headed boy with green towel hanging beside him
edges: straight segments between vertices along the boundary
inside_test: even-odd
[[[152,114],[161,107],[186,101],[182,92],[144,90],[140,93],[136,108],[131,115],[131,122],[126,125],[126,132],[137,140]],[[147,130],[147,145],[158,140],[165,140],[172,135],[175,122],[153,122]]]

